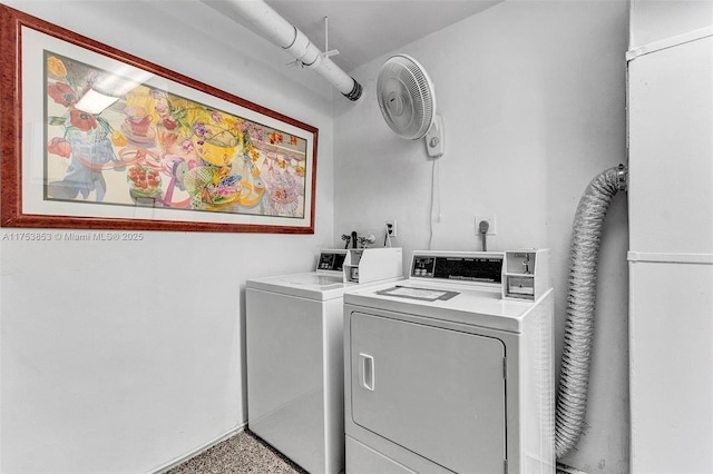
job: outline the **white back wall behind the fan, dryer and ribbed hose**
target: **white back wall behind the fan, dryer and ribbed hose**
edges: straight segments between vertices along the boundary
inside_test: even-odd
[[[475,216],[495,214],[489,249],[548,247],[557,355],[575,209],[598,172],[626,160],[626,1],[506,1],[411,43],[446,124],[432,248],[480,249]],[[397,51],[394,51],[397,52]],[[432,162],[423,141],[389,130],[375,99],[388,56],[352,71],[356,105],[335,101],[335,237],[383,238],[398,220],[404,255],[429,246]],[[437,219],[440,209],[440,220]],[[563,460],[587,473],[628,468],[626,196],[605,223],[588,429]]]

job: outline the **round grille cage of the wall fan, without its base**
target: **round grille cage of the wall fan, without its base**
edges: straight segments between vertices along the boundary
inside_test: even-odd
[[[379,72],[377,89],[381,113],[397,135],[412,140],[426,136],[436,116],[436,99],[433,85],[421,65],[407,56],[390,58]],[[390,95],[398,95],[411,115],[397,117],[387,103]]]

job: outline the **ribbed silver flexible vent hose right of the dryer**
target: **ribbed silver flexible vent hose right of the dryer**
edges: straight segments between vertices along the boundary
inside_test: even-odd
[[[612,198],[619,190],[626,190],[624,165],[607,169],[589,182],[575,215],[555,422],[557,458],[566,456],[577,445],[585,426],[602,227]]]

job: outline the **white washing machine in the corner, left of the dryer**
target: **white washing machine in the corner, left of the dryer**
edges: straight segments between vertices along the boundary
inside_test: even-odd
[[[247,280],[248,428],[310,473],[344,468],[344,292],[402,276],[400,248],[367,248]]]

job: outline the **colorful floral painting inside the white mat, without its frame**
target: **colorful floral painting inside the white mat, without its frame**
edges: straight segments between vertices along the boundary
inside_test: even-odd
[[[45,56],[46,199],[304,217],[303,138]]]

